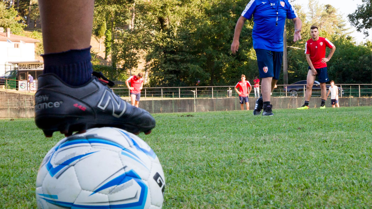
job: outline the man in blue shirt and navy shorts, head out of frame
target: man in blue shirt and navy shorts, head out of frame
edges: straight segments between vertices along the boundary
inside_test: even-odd
[[[270,93],[279,79],[283,61],[283,32],[285,19],[295,24],[293,41],[301,39],[302,22],[288,0],[251,0],[241,13],[235,26],[232,54],[239,48],[239,36],[244,22],[253,15],[253,48],[256,50],[261,82],[261,93],[256,101],[253,115],[274,115],[270,104]]]

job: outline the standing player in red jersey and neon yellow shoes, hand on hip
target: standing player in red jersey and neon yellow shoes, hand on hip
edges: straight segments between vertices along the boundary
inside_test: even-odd
[[[309,109],[312,85],[314,84],[316,76],[318,76],[321,89],[322,102],[320,109],[325,108],[325,99],[327,98],[327,88],[325,87],[325,82],[329,81],[327,74],[327,62],[331,59],[334,51],[336,50],[336,46],[334,46],[328,39],[319,36],[317,26],[311,26],[310,33],[311,39],[309,39],[305,45],[306,60],[309,64],[305,103],[301,107],[297,108],[299,110]],[[327,58],[325,58],[325,47],[331,48]]]

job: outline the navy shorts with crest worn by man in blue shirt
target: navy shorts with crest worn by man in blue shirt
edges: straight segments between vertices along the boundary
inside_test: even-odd
[[[283,52],[275,52],[266,49],[255,49],[260,78],[273,77],[279,80],[282,69]]]

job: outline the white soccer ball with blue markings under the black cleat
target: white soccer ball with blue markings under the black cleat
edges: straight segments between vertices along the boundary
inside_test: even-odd
[[[118,128],[59,141],[36,178],[38,208],[161,208],[165,178],[154,151]]]

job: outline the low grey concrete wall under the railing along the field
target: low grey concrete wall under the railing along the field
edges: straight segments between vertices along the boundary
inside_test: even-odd
[[[340,107],[349,106],[371,106],[372,98],[339,98]],[[254,109],[256,98],[249,99],[250,110]],[[321,99],[312,97],[310,108],[320,106]],[[271,103],[274,109],[294,109],[304,104],[304,97],[272,97]],[[331,107],[330,98],[326,106]],[[32,118],[34,117],[34,96],[21,93],[9,93],[0,91],[0,118]],[[172,112],[208,112],[240,110],[237,97],[218,99],[166,99],[149,100],[141,98],[140,107],[150,113],[172,113]],[[245,105],[244,105],[245,108]]]

